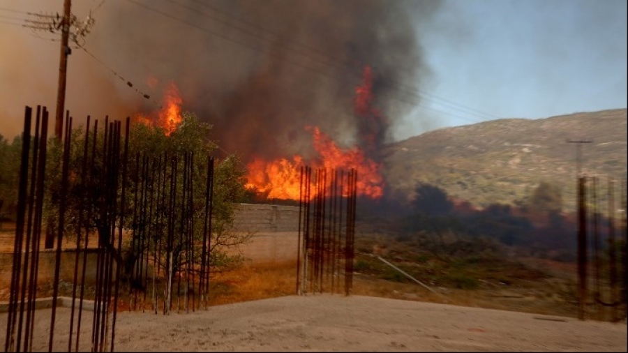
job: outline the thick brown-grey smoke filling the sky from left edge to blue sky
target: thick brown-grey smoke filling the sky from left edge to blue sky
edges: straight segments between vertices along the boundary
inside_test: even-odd
[[[439,7],[440,0],[74,2],[74,15],[96,22],[87,52],[74,46],[68,57],[66,109],[75,126],[87,115],[156,112],[174,83],[182,109],[211,123],[210,138],[227,153],[308,158],[306,127],[317,126],[377,159],[391,128],[417,104],[408,87],[418,88],[428,70],[416,26]],[[10,0],[7,8],[51,14],[62,3]],[[59,33],[5,28],[0,133],[17,135],[24,105],[45,105],[54,116]],[[357,112],[366,66],[372,100]]]

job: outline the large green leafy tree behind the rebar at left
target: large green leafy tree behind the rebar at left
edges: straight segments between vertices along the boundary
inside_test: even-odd
[[[205,218],[202,212],[206,202],[204,188],[207,184],[209,156],[217,148],[214,142],[208,140],[211,126],[202,123],[195,114],[189,112],[183,114],[177,130],[170,135],[159,126],[130,123],[126,156],[124,127],[121,142],[114,144],[120,147],[117,156],[114,156],[118,158],[119,167],[113,171],[116,175],[112,176],[112,171],[107,170],[111,167],[105,163],[112,152],[103,150],[105,129],[102,122],[99,123],[96,134],[94,124],[89,134],[86,134],[84,127],[75,128],[72,133],[64,236],[84,234],[82,230],[96,232],[99,241],[114,251],[115,234],[112,232],[115,230],[112,230],[111,221],[113,219],[118,227],[120,224],[116,217],[119,217],[124,222],[121,226],[133,233],[133,240],[125,244],[125,253],[117,252],[114,255],[117,262],[124,265],[127,274],[133,272],[137,259],[148,251],[155,253],[151,256],[158,257],[154,259],[157,266],[167,268],[171,273],[197,260],[203,246]],[[47,158],[50,161],[47,166],[47,184],[52,190],[46,206],[49,216],[59,214],[62,200],[62,153],[61,144],[53,142]],[[214,168],[211,248],[208,251],[211,266],[216,271],[240,264],[243,257],[230,249],[237,248],[251,238],[251,234],[236,234],[232,228],[237,202],[245,193],[243,166],[237,155],[231,155],[217,160]],[[170,178],[168,180],[172,181],[172,185],[166,185],[166,178]],[[123,179],[126,181],[125,190],[120,187]],[[108,184],[110,181],[112,183]],[[194,192],[184,190],[184,183],[187,183],[186,190]],[[159,204],[159,197],[164,193],[173,195],[172,204]],[[110,204],[116,204],[116,208],[111,209],[108,206]],[[142,210],[144,213],[140,212]],[[54,222],[49,224],[52,234],[56,232],[55,226]],[[180,236],[184,233],[191,237],[190,243],[194,249],[188,248],[190,244]],[[174,239],[168,242],[168,236],[172,238],[173,234]],[[167,258],[170,260],[167,260],[165,253],[155,251],[156,246],[163,243],[168,244]]]

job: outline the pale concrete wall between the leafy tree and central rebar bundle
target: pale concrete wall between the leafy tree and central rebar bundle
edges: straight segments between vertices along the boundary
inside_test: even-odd
[[[234,227],[236,232],[253,234],[251,243],[240,250],[254,263],[297,260],[298,206],[240,204]]]

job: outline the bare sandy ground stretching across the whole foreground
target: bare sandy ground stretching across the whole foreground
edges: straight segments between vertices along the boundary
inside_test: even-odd
[[[36,311],[33,351],[47,351],[50,310]],[[91,350],[84,311],[80,350]],[[57,309],[54,351],[68,351],[69,308]],[[4,349],[6,313],[0,314]],[[109,350],[107,348],[107,350]],[[367,296],[317,294],[170,315],[118,313],[117,352],[626,352],[625,322]]]

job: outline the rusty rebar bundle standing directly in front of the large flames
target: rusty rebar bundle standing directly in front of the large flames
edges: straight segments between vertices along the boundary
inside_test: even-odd
[[[352,290],[357,172],[301,167],[297,294]],[[344,265],[344,266],[343,266]]]

